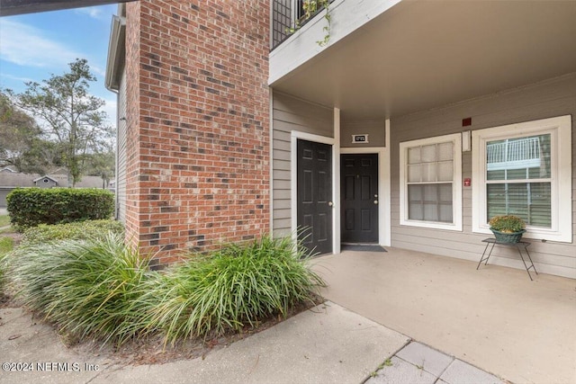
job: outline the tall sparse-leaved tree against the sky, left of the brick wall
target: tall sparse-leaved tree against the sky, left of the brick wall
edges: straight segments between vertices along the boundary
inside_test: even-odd
[[[110,145],[113,134],[106,113],[100,111],[103,99],[88,93],[96,78],[87,60],[76,58],[68,66],[62,76],[52,75],[41,85],[28,82],[22,94],[9,94],[18,107],[39,121],[43,134],[58,143],[68,186],[74,186],[82,177],[85,155],[101,152]]]

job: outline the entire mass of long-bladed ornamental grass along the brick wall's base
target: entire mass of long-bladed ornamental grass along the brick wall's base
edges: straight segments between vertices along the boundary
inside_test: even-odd
[[[109,233],[31,242],[10,254],[8,272],[23,304],[73,339],[122,344],[160,333],[175,344],[257,326],[313,302],[324,281],[294,248],[289,238],[263,237],[157,272]]]

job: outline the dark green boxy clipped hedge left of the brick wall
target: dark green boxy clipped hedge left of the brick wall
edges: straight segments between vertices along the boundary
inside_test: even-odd
[[[17,230],[39,224],[110,219],[114,209],[112,192],[89,188],[17,188],[8,193],[6,203]]]

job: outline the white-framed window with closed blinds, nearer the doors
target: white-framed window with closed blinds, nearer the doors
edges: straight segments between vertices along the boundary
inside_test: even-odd
[[[400,144],[401,225],[462,230],[460,134]]]

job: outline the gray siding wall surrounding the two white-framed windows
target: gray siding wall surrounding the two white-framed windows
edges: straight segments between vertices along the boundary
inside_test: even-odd
[[[464,130],[572,114],[572,244],[532,240],[530,255],[539,272],[576,278],[576,74],[510,90],[446,108],[418,112],[391,121],[392,246],[478,261],[485,234],[472,232],[472,188],[463,188],[463,232],[400,226],[400,150],[402,141]],[[462,127],[472,117],[471,127]],[[472,153],[463,153],[463,179],[472,177]],[[472,183],[475,181],[472,180]],[[476,181],[477,182],[477,181]],[[524,268],[516,249],[494,248],[491,263]]]

